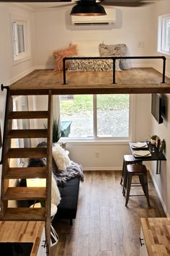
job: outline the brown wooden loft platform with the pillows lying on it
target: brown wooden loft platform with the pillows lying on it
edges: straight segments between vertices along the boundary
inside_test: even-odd
[[[10,85],[11,95],[45,95],[49,90],[53,95],[170,93],[170,79],[165,77],[166,58],[127,56],[127,49],[125,44],[105,45],[90,41],[88,46],[88,41],[75,42],[66,50],[54,52],[56,64],[62,71],[37,69]],[[88,53],[90,57],[86,57]],[[130,59],[159,59],[163,64],[162,72],[153,68],[129,68]],[[120,69],[120,62],[125,69]]]

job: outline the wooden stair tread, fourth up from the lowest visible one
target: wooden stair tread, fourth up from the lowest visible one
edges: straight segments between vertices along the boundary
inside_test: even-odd
[[[10,148],[6,158],[45,158],[47,148]]]

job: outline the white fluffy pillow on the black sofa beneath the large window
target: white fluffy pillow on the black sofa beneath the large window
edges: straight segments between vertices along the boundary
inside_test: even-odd
[[[58,170],[66,171],[71,161],[68,158],[68,151],[64,150],[58,143],[53,144],[53,159],[58,166]]]

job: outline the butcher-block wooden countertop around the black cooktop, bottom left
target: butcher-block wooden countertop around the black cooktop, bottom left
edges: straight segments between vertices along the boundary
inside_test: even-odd
[[[43,221],[0,221],[0,242],[33,242],[30,256],[36,256],[44,226]]]

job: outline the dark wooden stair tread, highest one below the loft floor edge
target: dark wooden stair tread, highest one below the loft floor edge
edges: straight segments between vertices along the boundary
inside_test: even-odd
[[[8,119],[47,119],[48,111],[12,111]]]

